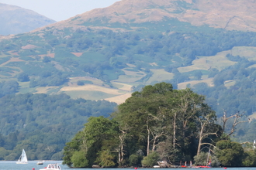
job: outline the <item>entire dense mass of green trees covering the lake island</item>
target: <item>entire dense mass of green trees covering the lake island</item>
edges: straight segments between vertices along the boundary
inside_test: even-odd
[[[89,118],[84,130],[65,146],[64,164],[138,165],[140,156],[140,165],[149,167],[163,159],[189,162],[221,134],[204,97],[189,89],[173,90],[170,83],[146,86],[118,108],[112,119]],[[72,162],[80,152],[81,162]]]

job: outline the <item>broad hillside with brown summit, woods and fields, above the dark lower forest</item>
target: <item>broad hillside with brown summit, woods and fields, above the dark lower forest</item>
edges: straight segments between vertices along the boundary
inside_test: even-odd
[[[196,87],[218,115],[229,107],[230,114],[237,108],[252,114],[254,103],[228,93],[252,98],[256,80],[256,2],[243,2],[123,0],[2,36],[0,81],[18,81],[16,93],[67,93],[117,104],[144,85],[166,81]],[[250,91],[245,97],[242,85]]]

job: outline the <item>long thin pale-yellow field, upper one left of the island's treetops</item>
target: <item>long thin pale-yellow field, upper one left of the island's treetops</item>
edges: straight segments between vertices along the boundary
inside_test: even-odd
[[[115,95],[122,94],[119,92],[119,90],[116,89],[110,89],[106,87],[100,87],[92,84],[87,84],[84,86],[77,86],[77,87],[62,87],[61,91],[81,91],[81,90],[87,90],[87,91],[102,91],[104,93],[111,93]]]

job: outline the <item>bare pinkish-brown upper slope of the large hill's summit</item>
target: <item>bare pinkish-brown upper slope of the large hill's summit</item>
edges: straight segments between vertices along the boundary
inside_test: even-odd
[[[192,26],[256,31],[256,2],[252,0],[123,0],[108,8],[96,8],[76,15],[57,26],[133,26],[144,22],[178,19]]]

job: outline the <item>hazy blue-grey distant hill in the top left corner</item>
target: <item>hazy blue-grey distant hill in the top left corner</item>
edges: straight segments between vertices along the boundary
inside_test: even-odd
[[[0,35],[29,32],[54,22],[31,10],[0,3]]]

